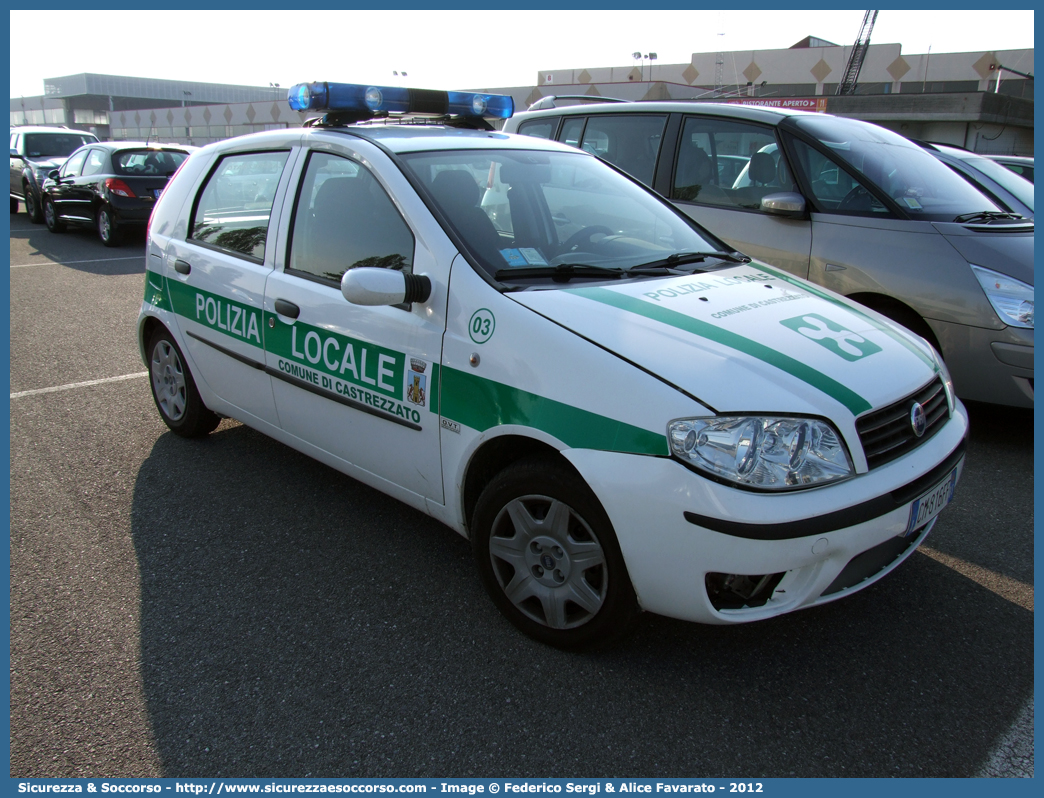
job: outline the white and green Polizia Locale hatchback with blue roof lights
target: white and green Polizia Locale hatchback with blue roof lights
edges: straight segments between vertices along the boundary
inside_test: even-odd
[[[509,97],[289,99],[323,116],[204,147],[152,214],[138,336],[174,432],[232,417],[430,514],[563,648],[847,595],[952,497],[968,420],[924,341],[498,133]]]

